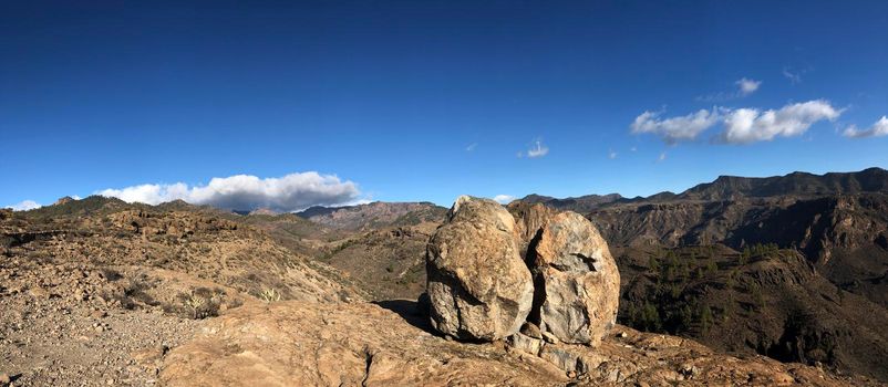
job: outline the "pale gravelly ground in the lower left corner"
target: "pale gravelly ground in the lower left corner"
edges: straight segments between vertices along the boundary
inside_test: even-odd
[[[83,266],[0,270],[0,372],[10,386],[151,386],[169,348],[198,321],[128,310]],[[107,293],[105,293],[107,294]]]

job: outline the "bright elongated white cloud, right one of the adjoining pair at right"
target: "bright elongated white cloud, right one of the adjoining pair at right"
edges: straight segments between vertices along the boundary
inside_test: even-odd
[[[807,132],[819,121],[834,121],[841,114],[824,100],[808,101],[760,112],[755,108],[731,111],[724,117],[720,139],[729,144],[772,140],[776,136],[793,137]]]

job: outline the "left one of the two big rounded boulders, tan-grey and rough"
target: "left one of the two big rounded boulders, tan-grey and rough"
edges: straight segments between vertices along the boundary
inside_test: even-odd
[[[520,328],[534,299],[515,219],[488,199],[462,196],[426,252],[432,326],[461,339],[495,341]]]

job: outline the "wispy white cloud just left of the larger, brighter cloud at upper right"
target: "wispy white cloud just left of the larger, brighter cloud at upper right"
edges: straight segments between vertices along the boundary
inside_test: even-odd
[[[681,117],[660,119],[661,113],[644,112],[632,122],[632,134],[650,133],[659,135],[668,144],[692,140],[705,129],[719,123],[719,109],[701,109]]]

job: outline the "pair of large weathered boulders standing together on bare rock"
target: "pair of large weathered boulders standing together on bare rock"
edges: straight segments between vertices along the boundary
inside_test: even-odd
[[[491,200],[456,200],[428,248],[432,324],[458,338],[489,341],[515,334],[529,316],[557,341],[598,344],[615,323],[620,287],[607,243],[578,213],[543,205],[509,209],[514,217]],[[515,308],[527,293],[516,297],[500,289],[526,292],[525,264],[534,276],[533,308]],[[509,312],[505,320],[497,314],[503,307]],[[512,341],[526,343],[520,336]]]

